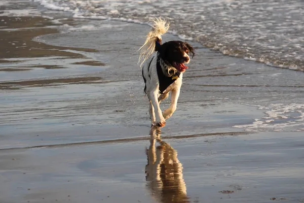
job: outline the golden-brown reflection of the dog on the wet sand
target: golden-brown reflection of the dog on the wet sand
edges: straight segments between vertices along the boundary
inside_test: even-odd
[[[158,146],[157,143],[159,144]],[[189,202],[182,164],[177,152],[160,138],[160,129],[150,131],[150,147],[146,149],[148,163],[145,167],[147,188],[159,202]]]

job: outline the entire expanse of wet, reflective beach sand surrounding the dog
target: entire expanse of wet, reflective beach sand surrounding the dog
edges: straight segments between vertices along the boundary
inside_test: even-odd
[[[304,202],[302,131],[233,128],[263,117],[255,104],[301,104],[297,72],[191,42],[160,132],[137,65],[147,26],[1,19],[0,202]]]

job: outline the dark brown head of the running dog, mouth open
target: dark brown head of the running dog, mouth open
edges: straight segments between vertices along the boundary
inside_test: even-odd
[[[190,62],[190,56],[193,58],[195,55],[194,48],[182,41],[166,42],[158,48],[158,51],[165,63],[181,73],[188,68],[185,64]]]

